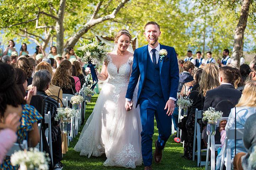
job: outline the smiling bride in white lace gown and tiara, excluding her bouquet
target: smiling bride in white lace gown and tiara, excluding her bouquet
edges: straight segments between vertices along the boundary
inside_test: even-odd
[[[114,41],[117,49],[108,53],[101,73],[97,73],[105,83],[74,150],[88,158],[105,153],[105,166],[136,168],[142,165],[139,107],[129,112],[124,108],[133,63],[131,35],[122,29]],[[135,95],[136,91],[134,100]]]

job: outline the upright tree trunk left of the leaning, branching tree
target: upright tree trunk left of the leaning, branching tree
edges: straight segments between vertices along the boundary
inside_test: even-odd
[[[64,49],[64,27],[63,27],[63,19],[64,19],[64,11],[65,11],[66,0],[60,0],[60,7],[58,11],[58,20],[55,25],[56,30],[56,47],[57,53],[62,54]]]

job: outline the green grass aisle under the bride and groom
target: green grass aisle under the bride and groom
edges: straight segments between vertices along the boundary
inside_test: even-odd
[[[85,119],[91,114],[96,99],[98,95],[92,97],[91,103],[88,103],[86,106]],[[80,132],[83,126],[80,128]],[[153,141],[156,140],[158,133],[155,126],[155,134],[153,136]],[[79,135],[76,136],[73,142],[70,143],[69,151],[64,154],[62,163],[64,164],[64,170],[127,170],[126,168],[117,168],[117,167],[105,167],[103,166],[104,161],[106,160],[105,155],[101,157],[91,157],[88,159],[85,156],[80,156],[79,152],[73,150],[76,142],[79,139]],[[153,152],[155,146],[153,145]],[[160,164],[156,165],[153,163],[154,170],[203,170],[204,168],[197,168],[196,162],[181,158],[183,155],[182,144],[174,142],[173,138],[170,137],[169,141],[166,143],[165,150],[163,152],[163,158]],[[138,166],[137,170],[143,170],[143,166]]]

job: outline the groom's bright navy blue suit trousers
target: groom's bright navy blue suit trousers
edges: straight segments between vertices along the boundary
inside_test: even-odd
[[[140,118],[142,121],[142,158],[144,166],[152,164],[152,136],[154,134],[154,117],[158,128],[158,141],[156,145],[164,149],[165,143],[171,135],[172,117],[166,115],[165,100],[154,95],[149,97],[142,94],[140,99]]]

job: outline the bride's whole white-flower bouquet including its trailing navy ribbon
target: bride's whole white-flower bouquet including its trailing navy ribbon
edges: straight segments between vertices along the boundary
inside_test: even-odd
[[[107,51],[105,51],[105,47],[102,43],[97,43],[92,39],[91,41],[82,40],[75,53],[79,58],[81,58],[82,62],[88,63],[87,67],[91,69],[91,77],[93,81],[91,89],[93,90],[98,83],[94,67],[96,64],[102,63],[105,60],[107,57]]]

